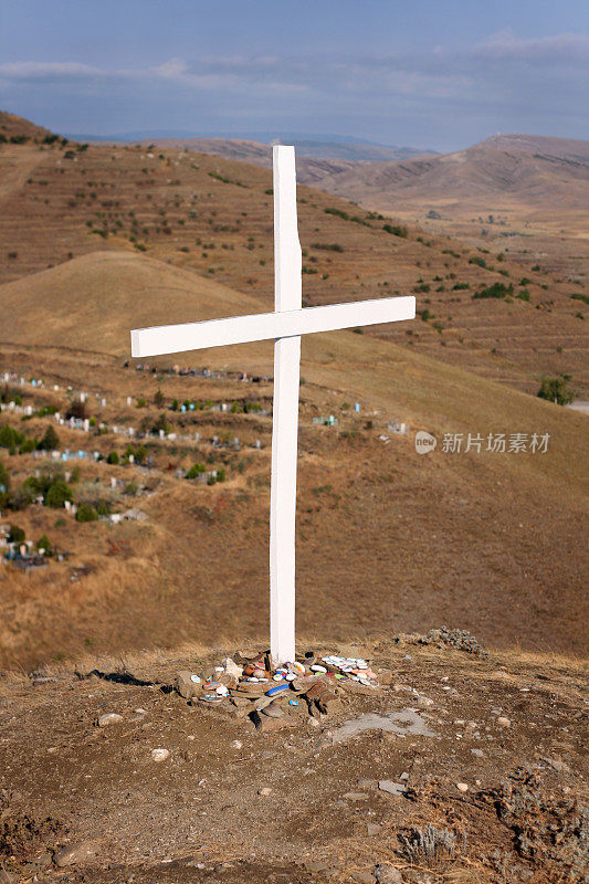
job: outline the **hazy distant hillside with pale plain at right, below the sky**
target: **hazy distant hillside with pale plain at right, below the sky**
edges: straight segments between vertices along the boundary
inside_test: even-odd
[[[430,233],[589,283],[588,141],[502,135],[400,162],[302,162],[302,179]]]

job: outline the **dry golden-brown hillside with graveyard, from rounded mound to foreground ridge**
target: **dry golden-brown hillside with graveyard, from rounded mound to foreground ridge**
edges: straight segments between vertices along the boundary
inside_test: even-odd
[[[40,293],[45,313],[36,306],[39,319],[19,324],[19,304],[28,316]],[[146,370],[124,367],[130,327],[249,312],[252,296],[145,255],[101,252],[4,286],[3,302],[14,318],[3,326],[13,335],[0,369],[44,378],[40,389],[22,388],[32,415],[3,419],[40,438],[54,424],[35,417],[40,408],[67,413],[75,391],[88,391],[94,429],[59,427],[61,446],[122,460],[81,461],[75,498],[105,498],[113,512],[136,506],[148,517],[85,525],[39,505],[10,515],[28,538],[45,533],[71,557],[28,576],[0,570],[3,662],[34,663],[56,646],[75,653],[86,641],[106,650],[263,630],[272,345],[181,356],[180,367],[212,367],[220,377],[170,373],[173,357],[148,360]],[[326,638],[347,640],[358,623],[392,630],[449,621],[493,644],[581,651],[585,415],[353,332],[308,336],[302,377],[302,629],[320,623]],[[198,409],[170,410],[175,400]],[[328,414],[339,425],[317,425]],[[391,434],[396,418],[409,435]],[[437,436],[433,453],[416,452],[418,429]],[[444,451],[445,433],[462,433],[464,446],[469,433],[480,435],[482,450]],[[528,443],[548,433],[549,448],[502,454],[487,450],[490,433],[525,433]],[[148,467],[125,461],[136,436]],[[8,460],[3,451],[13,490],[46,469],[25,451]],[[187,482],[196,462],[222,469],[227,481]],[[108,491],[112,477],[117,491]],[[326,618],[329,610],[337,615]]]

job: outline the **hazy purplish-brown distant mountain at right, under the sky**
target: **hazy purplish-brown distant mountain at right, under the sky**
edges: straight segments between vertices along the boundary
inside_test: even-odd
[[[313,185],[380,211],[457,218],[586,211],[589,141],[497,135],[453,154],[314,168]],[[307,178],[311,183],[311,179]]]

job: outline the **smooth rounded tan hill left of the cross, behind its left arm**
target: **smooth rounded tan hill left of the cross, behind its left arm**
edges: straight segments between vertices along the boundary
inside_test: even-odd
[[[94,252],[0,287],[4,343],[129,354],[129,330],[260,309],[241,294],[133,252]]]

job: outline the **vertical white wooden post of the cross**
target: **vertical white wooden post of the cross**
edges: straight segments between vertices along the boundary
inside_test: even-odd
[[[274,304],[302,307],[294,147],[273,148]],[[275,665],[295,657],[295,516],[301,336],[274,343],[270,492],[270,646]]]

